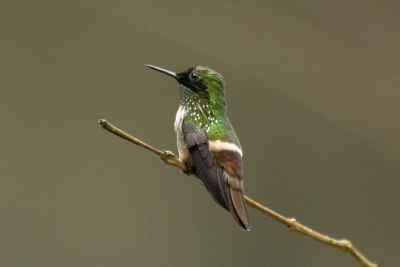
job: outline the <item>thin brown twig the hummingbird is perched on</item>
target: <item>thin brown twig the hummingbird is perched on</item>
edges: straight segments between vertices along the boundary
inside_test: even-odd
[[[107,131],[109,131],[115,135],[118,135],[119,137],[121,137],[125,140],[128,140],[128,141],[134,143],[135,145],[144,147],[147,150],[150,150],[151,152],[153,152],[154,154],[160,156],[161,159],[167,165],[175,166],[184,172],[187,171],[186,165],[183,164],[181,161],[179,161],[179,159],[171,152],[158,150],[158,149],[140,141],[139,139],[133,137],[132,135],[129,135],[129,134],[125,133],[124,131],[118,129],[117,127],[115,127],[114,125],[112,125],[111,123],[107,122],[104,119],[101,119],[99,121],[99,124],[102,128],[106,129]],[[197,179],[199,179],[198,175],[196,175],[196,174],[192,174],[192,175],[194,177],[196,177]],[[318,232],[312,230],[311,228],[308,228],[308,227],[300,224],[295,219],[286,218],[286,217],[276,213],[275,211],[268,209],[267,207],[264,207],[260,203],[257,203],[256,201],[252,200],[251,198],[249,198],[247,196],[245,196],[245,199],[246,199],[246,203],[248,206],[250,206],[250,207],[258,210],[259,212],[264,213],[265,215],[268,215],[269,217],[286,225],[291,231],[302,233],[303,235],[311,237],[311,238],[313,238],[319,242],[322,242],[326,245],[330,245],[330,246],[339,248],[343,251],[346,251],[346,252],[350,253],[354,258],[356,258],[363,266],[366,266],[366,267],[377,267],[378,266],[377,264],[369,261],[363,254],[361,254],[361,252],[359,252],[351,244],[350,241],[348,241],[346,239],[342,239],[342,240],[333,239],[327,235],[318,233]]]

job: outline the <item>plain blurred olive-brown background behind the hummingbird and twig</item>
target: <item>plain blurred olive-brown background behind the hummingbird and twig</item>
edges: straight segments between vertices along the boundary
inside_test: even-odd
[[[1,266],[360,266],[98,127],[176,152],[178,85],[227,82],[246,194],[399,261],[400,4],[2,1]]]

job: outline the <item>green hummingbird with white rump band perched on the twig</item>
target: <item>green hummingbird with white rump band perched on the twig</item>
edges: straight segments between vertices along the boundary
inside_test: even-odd
[[[237,224],[250,230],[243,196],[243,160],[239,139],[227,116],[225,82],[208,67],[175,73],[152,65],[179,83],[180,105],[175,119],[179,160],[196,172],[212,198]]]

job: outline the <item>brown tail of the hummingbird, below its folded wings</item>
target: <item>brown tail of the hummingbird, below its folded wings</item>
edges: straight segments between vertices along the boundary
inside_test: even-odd
[[[247,212],[246,201],[244,200],[243,193],[232,188],[227,188],[227,191],[229,191],[230,195],[228,199],[233,219],[235,219],[243,230],[250,231],[250,218],[249,213]]]

